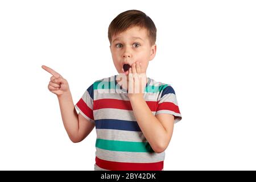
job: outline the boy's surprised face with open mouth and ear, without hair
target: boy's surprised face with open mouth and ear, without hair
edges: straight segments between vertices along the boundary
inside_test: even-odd
[[[141,63],[141,72],[146,73],[148,61],[155,57],[156,45],[150,45],[145,28],[132,27],[112,37],[110,51],[118,73],[128,75],[123,65],[135,62]]]

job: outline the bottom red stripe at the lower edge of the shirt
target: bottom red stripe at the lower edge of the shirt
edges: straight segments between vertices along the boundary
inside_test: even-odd
[[[162,171],[163,161],[157,163],[120,163],[96,157],[96,165],[111,171]]]

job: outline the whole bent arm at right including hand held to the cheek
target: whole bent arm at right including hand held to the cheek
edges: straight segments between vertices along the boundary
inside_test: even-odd
[[[141,77],[138,77],[139,75]],[[134,78],[137,81],[140,80],[139,78],[146,80],[146,74],[141,74],[141,64],[138,62],[133,63],[129,69],[129,87],[131,90],[129,88],[128,97],[144,137],[155,152],[163,152],[166,150],[172,137],[174,116],[170,114],[153,115],[143,98],[143,92],[141,92],[146,86],[144,85],[145,82],[139,81],[136,83]],[[135,93],[135,90],[133,90],[137,86],[139,86],[139,93]]]

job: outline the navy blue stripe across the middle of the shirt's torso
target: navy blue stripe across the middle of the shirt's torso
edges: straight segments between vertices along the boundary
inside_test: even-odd
[[[119,119],[97,119],[95,120],[95,126],[96,129],[141,131],[137,122]]]

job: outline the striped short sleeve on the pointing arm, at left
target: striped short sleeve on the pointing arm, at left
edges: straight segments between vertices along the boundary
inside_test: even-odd
[[[89,88],[82,95],[80,100],[75,105],[76,109],[79,113],[82,114],[83,117],[88,119],[90,122],[94,122],[93,117],[93,84],[89,86]]]

